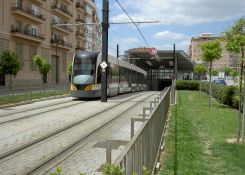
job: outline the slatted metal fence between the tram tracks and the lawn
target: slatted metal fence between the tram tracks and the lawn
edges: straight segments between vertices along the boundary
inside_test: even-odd
[[[150,115],[114,161],[114,164],[124,169],[124,174],[131,175],[133,172],[143,174],[143,166],[151,170],[154,168],[163,140],[170,105],[170,92],[170,87],[165,88],[155,98],[155,102],[158,101],[158,103],[153,102],[155,104],[153,108],[151,108],[151,103]]]

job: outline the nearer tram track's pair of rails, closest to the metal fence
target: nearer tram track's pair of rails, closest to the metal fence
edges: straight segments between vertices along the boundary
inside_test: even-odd
[[[138,96],[136,96],[136,97],[134,96],[133,98],[128,99],[128,100],[136,99],[136,98],[139,97],[139,96],[140,96],[140,95],[138,95]],[[148,98],[148,97],[149,97],[149,96],[147,96],[146,98]],[[63,127],[63,128],[61,128],[61,129],[59,129],[59,130],[56,130],[55,132],[49,133],[49,134],[47,134],[47,135],[45,135],[45,136],[43,136],[43,137],[37,138],[37,139],[35,139],[35,140],[32,140],[31,142],[28,142],[28,143],[25,143],[25,144],[23,144],[23,145],[21,145],[21,146],[18,146],[18,147],[16,147],[15,149],[11,149],[11,150],[5,151],[5,152],[1,153],[1,155],[0,155],[0,160],[1,160],[0,162],[3,163],[5,160],[8,159],[8,157],[10,157],[10,158],[11,158],[11,157],[14,157],[14,154],[17,154],[18,152],[21,152],[21,151],[23,151],[23,150],[26,150],[26,149],[32,147],[33,145],[38,144],[39,142],[48,140],[48,139],[51,138],[51,137],[54,137],[54,138],[55,138],[55,136],[58,135],[59,133],[65,132],[65,131],[71,129],[72,127],[74,127],[74,126],[77,126],[77,125],[82,124],[82,123],[84,123],[84,122],[86,122],[86,121],[88,121],[88,120],[91,120],[91,119],[95,118],[96,116],[101,115],[102,113],[106,113],[107,111],[109,111],[109,110],[111,110],[111,109],[113,109],[113,108],[116,108],[117,106],[122,105],[122,104],[124,104],[124,103],[126,103],[126,102],[127,102],[127,101],[124,101],[124,102],[118,103],[118,104],[116,104],[116,105],[113,105],[113,106],[107,108],[107,109],[104,110],[104,111],[100,111],[100,112],[98,112],[98,113],[95,113],[95,114],[93,114],[93,115],[91,115],[91,116],[89,116],[89,117],[87,117],[87,118],[85,118],[85,119],[82,119],[82,120],[80,120],[80,121],[74,122],[74,123],[72,123],[72,124],[70,124],[70,125],[67,125],[66,127]],[[133,107],[134,107],[134,106],[132,106],[131,108],[133,108]],[[127,110],[128,110],[128,109],[127,109]],[[125,112],[125,111],[123,111],[122,113],[124,113],[124,112]],[[121,115],[122,113],[118,114],[117,116]],[[108,121],[108,122],[110,122],[110,121]],[[106,125],[106,124],[104,124],[104,125]],[[103,126],[104,126],[104,125],[103,125]],[[97,128],[95,131],[97,131],[98,129],[102,128],[103,126]],[[93,132],[95,132],[95,131],[93,131]],[[90,134],[91,134],[91,133],[90,133]],[[74,144],[70,145],[69,148],[72,147],[72,146],[74,146],[74,145],[76,145],[78,142],[80,142],[80,141],[83,140],[84,138],[88,137],[90,134],[88,134],[87,136],[81,138],[79,141],[76,141]],[[69,148],[66,148],[66,149],[62,150],[59,154],[61,154],[62,152],[64,152],[65,150],[67,150],[67,149],[69,149]],[[22,154],[22,153],[20,153],[20,154]],[[59,155],[59,154],[57,154],[57,155]],[[55,157],[57,157],[57,156],[52,157],[52,159],[55,158]],[[50,159],[50,160],[51,160],[51,159]],[[50,161],[50,160],[48,160],[48,161]],[[0,163],[0,164],[1,164],[1,163]],[[46,163],[45,163],[45,164],[46,164]],[[40,166],[39,166],[39,167],[40,167]],[[35,168],[35,169],[37,169],[37,168]],[[34,171],[34,170],[33,170],[33,171]],[[31,172],[30,172],[30,173],[31,173]],[[26,173],[24,173],[24,174],[26,174]],[[28,174],[28,173],[27,173],[27,174]]]

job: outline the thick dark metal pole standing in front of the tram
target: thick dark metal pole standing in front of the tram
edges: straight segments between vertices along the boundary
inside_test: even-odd
[[[102,62],[107,63],[108,58],[108,14],[109,1],[103,0],[102,9]],[[101,102],[107,102],[107,68],[101,69]]]

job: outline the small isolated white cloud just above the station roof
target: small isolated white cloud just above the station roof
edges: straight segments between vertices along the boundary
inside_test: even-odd
[[[168,39],[168,40],[185,40],[188,38],[188,36],[186,36],[183,33],[174,33],[174,32],[170,32],[170,31],[162,31],[162,32],[158,32],[155,33],[153,35],[153,37],[155,39]]]

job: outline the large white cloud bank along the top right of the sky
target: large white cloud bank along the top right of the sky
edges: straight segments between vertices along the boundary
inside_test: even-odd
[[[164,24],[194,25],[245,16],[244,0],[124,0],[133,20],[155,19]],[[129,21],[122,12],[112,22]]]

